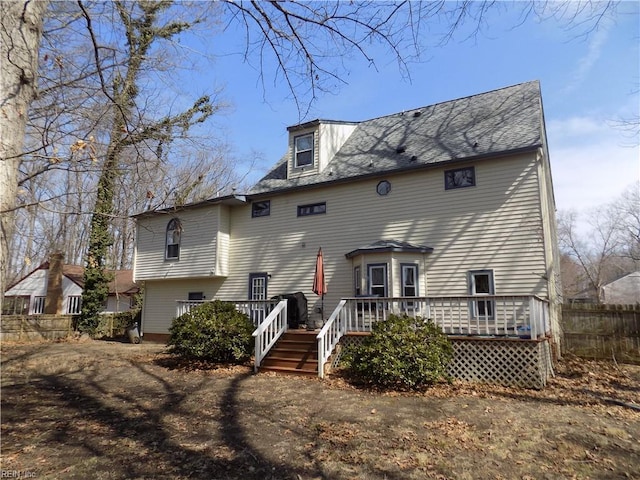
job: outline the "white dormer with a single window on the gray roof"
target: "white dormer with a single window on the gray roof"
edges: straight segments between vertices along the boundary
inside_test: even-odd
[[[287,128],[287,178],[322,173],[357,126],[354,122],[313,120]]]

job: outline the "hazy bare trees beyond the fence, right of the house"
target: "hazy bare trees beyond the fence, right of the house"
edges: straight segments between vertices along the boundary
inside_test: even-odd
[[[614,201],[558,214],[563,293],[602,302],[602,287],[640,270],[640,181]]]

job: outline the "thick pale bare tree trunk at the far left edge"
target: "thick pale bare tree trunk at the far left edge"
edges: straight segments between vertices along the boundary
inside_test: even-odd
[[[6,286],[18,167],[27,110],[36,96],[38,50],[47,6],[47,1],[0,2],[0,298]]]

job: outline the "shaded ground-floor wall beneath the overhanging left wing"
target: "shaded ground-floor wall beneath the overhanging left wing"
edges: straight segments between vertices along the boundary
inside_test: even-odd
[[[176,300],[186,300],[189,292],[202,292],[213,299],[222,279],[147,281],[144,288],[142,330],[148,333],[169,333],[176,316]]]

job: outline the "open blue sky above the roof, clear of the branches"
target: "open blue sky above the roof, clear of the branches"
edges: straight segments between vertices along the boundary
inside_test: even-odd
[[[426,52],[422,63],[411,65],[410,81],[383,52],[376,52],[377,71],[350,61],[347,84],[319,96],[303,120],[366,120],[540,80],[556,205],[588,210],[640,179],[638,132],[616,125],[639,116],[639,6],[622,2],[617,17],[588,36],[555,20],[514,27],[517,18],[496,10],[483,34],[459,35]],[[267,72],[263,90],[256,70],[229,55],[241,51],[241,38],[227,32],[213,40],[220,55],[196,83],[224,88],[231,108],[209,128],[225,135],[237,158],[261,154],[248,176],[253,183],[283,155],[286,128],[301,119],[285,85],[274,85]],[[241,161],[238,170],[248,165]]]

